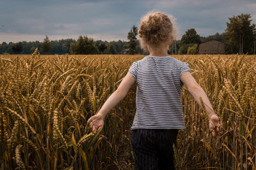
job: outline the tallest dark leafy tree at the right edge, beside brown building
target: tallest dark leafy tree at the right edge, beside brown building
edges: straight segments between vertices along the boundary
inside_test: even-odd
[[[227,29],[225,33],[227,38],[225,44],[227,46],[228,53],[253,53],[253,41],[255,41],[256,31],[255,24],[251,25],[250,14],[237,15],[228,18]]]

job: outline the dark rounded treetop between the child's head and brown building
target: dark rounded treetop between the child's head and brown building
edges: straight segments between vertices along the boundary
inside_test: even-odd
[[[182,38],[180,39],[182,45],[187,45],[190,43],[193,44],[197,44],[199,45],[200,43],[202,43],[200,36],[196,33],[195,29],[188,29],[188,31],[186,31],[186,33],[182,36]]]

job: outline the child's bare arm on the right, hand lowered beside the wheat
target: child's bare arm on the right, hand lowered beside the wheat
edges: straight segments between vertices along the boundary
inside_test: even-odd
[[[212,105],[211,105],[207,95],[205,94],[204,90],[202,89],[202,87],[200,87],[200,85],[198,85],[198,83],[196,83],[195,78],[193,78],[193,76],[191,75],[191,73],[189,71],[185,71],[180,76],[180,80],[182,81],[182,83],[184,83],[184,85],[186,85],[190,94],[195,98],[196,103],[198,103],[200,106],[202,106],[201,101],[200,101],[200,97],[202,97],[202,101],[204,102],[204,105],[205,105],[205,110],[209,117],[209,127],[212,132],[212,136],[215,136],[214,129],[216,126],[217,126],[217,131],[218,132],[220,131],[220,129],[218,127],[218,125],[220,125],[219,117],[218,117],[218,115],[216,115],[216,113],[212,109]]]

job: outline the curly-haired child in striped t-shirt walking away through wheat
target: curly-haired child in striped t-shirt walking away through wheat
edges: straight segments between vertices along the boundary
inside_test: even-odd
[[[183,84],[200,106],[202,97],[207,106],[212,136],[215,136],[219,118],[204,90],[191,75],[188,64],[167,53],[176,34],[173,20],[164,13],[150,12],[141,18],[138,34],[141,46],[150,54],[132,63],[118,89],[97,115],[89,118],[88,124],[93,132],[102,127],[106,113],[126,96],[136,81],[136,114],[131,127],[135,167],[174,169],[172,146],[176,144],[179,129],[185,129],[180,101]]]

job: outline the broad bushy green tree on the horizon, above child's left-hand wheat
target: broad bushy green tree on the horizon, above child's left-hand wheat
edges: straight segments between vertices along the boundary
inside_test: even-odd
[[[70,53],[72,54],[95,54],[99,53],[92,38],[79,36],[76,43],[70,43]]]

